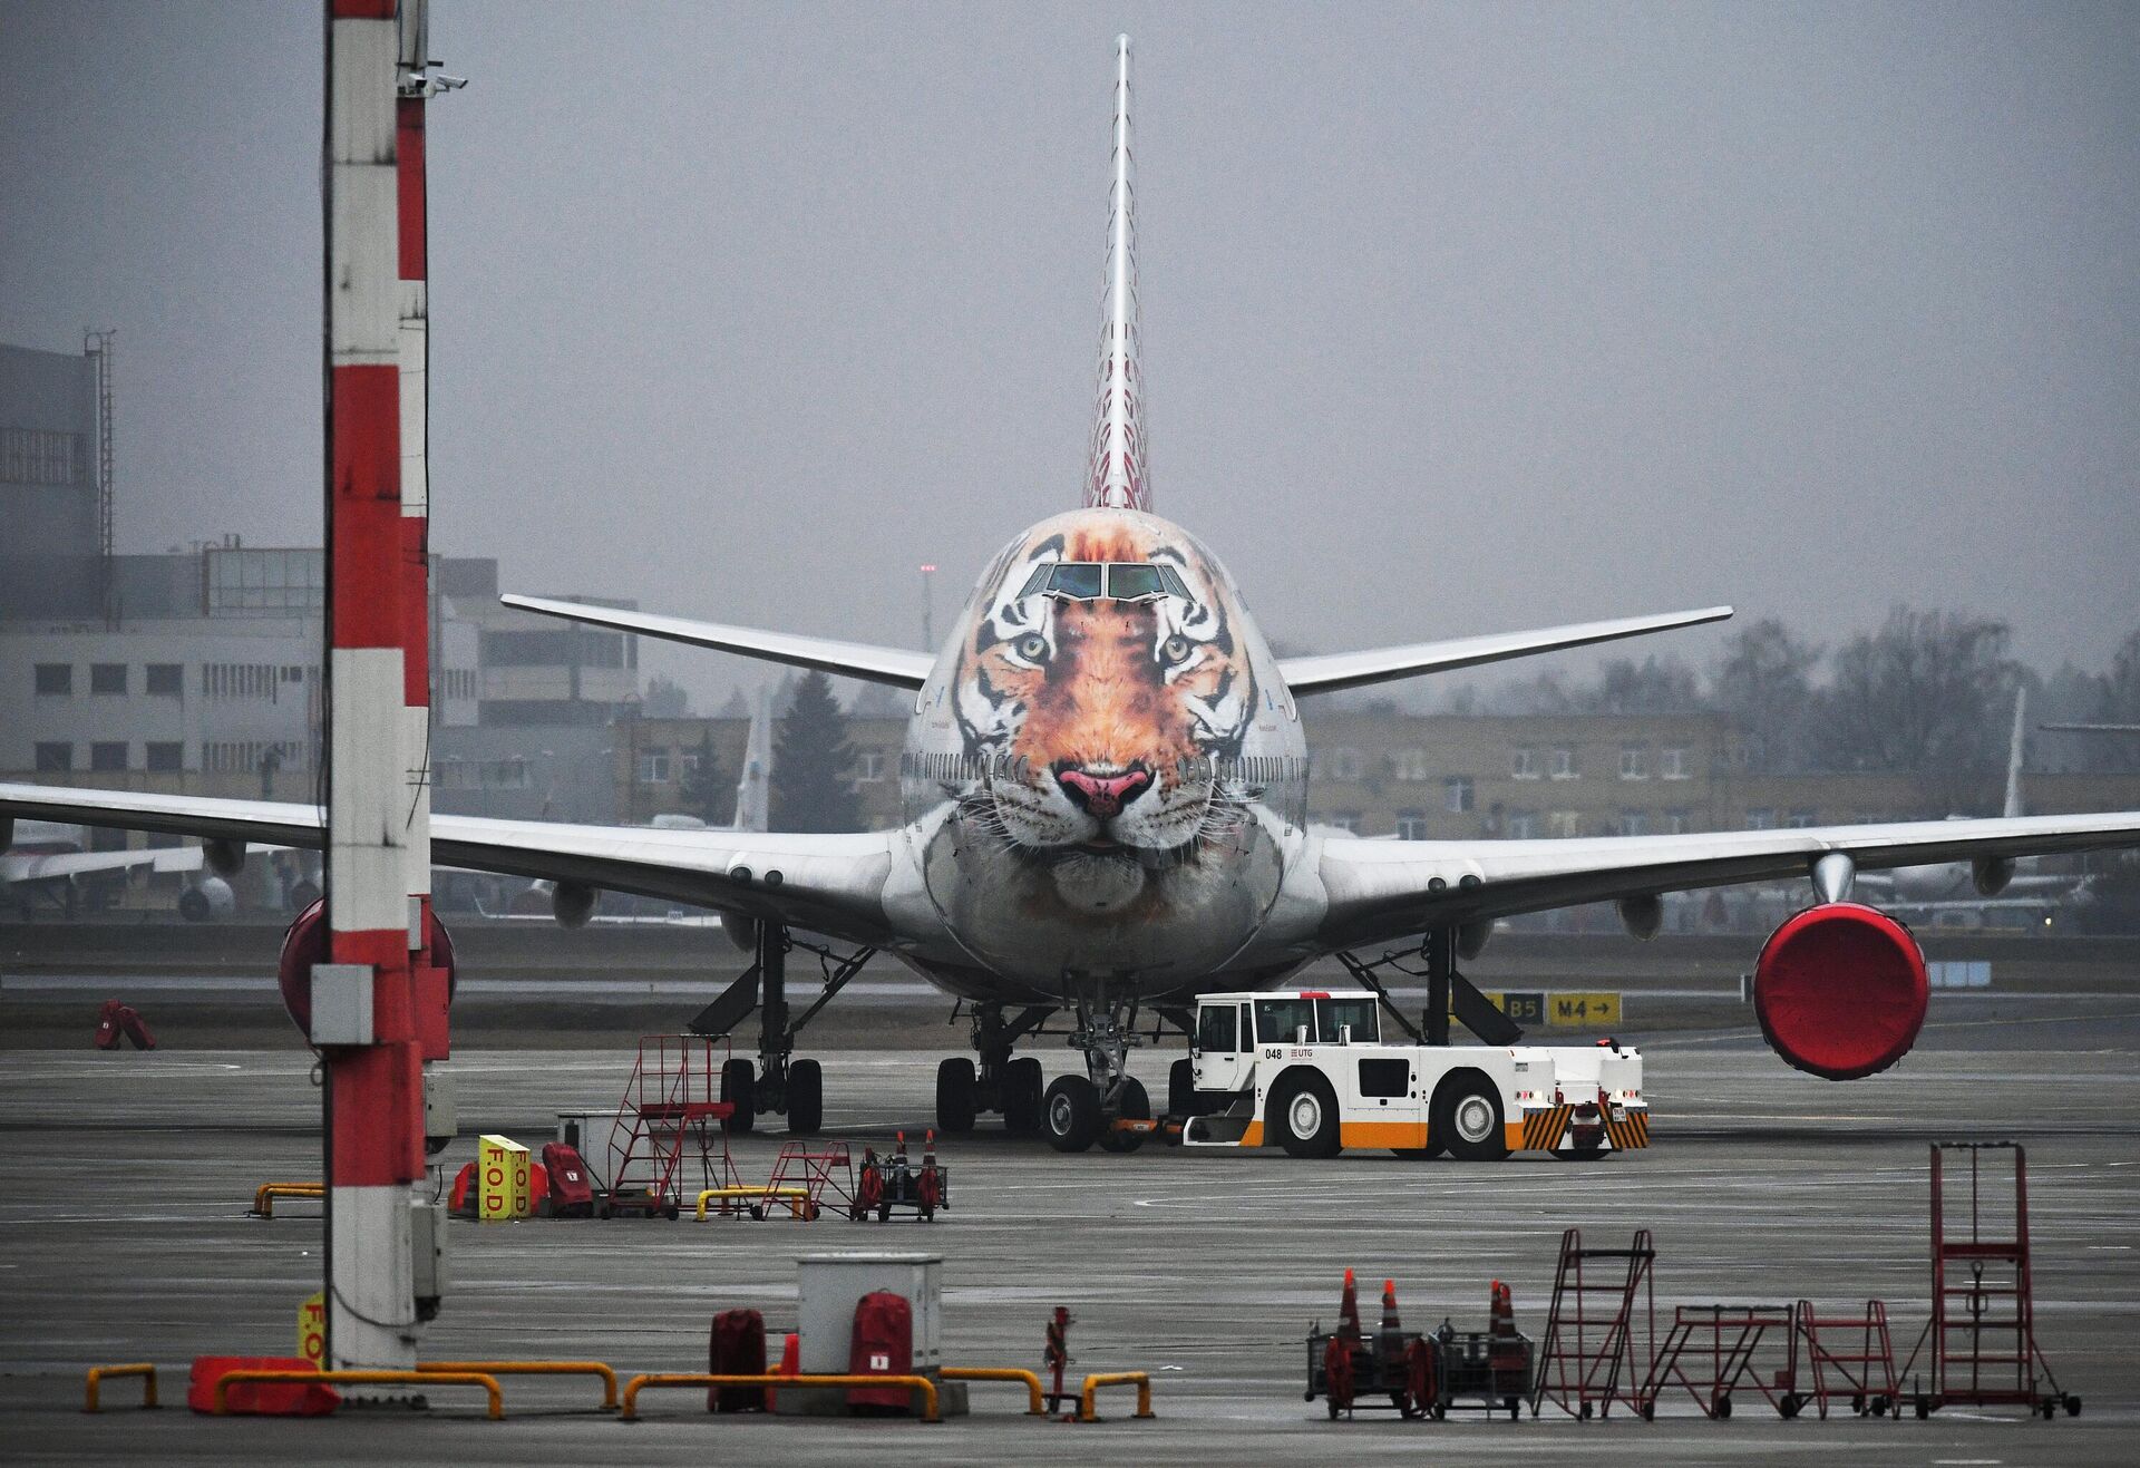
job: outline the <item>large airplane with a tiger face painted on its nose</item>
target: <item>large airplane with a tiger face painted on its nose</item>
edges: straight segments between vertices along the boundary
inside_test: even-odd
[[[1042,1134],[1059,1151],[1128,1149],[1141,1134],[1115,1121],[1151,1115],[1126,1070],[1145,1040],[1141,1023],[1153,1016],[1188,1031],[1198,993],[1271,987],[1331,957],[1380,991],[1376,974],[1417,952],[1427,1040],[1444,1042],[1453,1014],[1487,1044],[1511,1044],[1522,1031],[1455,967],[1496,918],[1614,901],[1624,927],[1650,937],[1665,892],[1780,880],[1810,880],[1817,901],[1763,948],[1757,1016],[1791,1066],[1851,1079],[1907,1053],[1926,1010],[1924,957],[1898,922],[1849,901],[1858,871],[1971,862],[1977,886],[1992,888],[2020,856],[2140,845],[2140,811],[1543,841],[1310,830],[1303,700],[1714,623],[1731,608],[1275,657],[1218,556],[1153,514],[1126,36],[1115,62],[1100,383],[1083,503],[1004,546],[939,651],[503,597],[546,616],[914,695],[903,822],[890,830],[432,817],[439,865],[550,880],[561,912],[614,888],[723,916],[723,931],[755,963],[696,1027],[732,1034],[743,1016],[760,1019],[758,1064],[736,1057],[723,1076],[736,1126],[773,1113],[785,1113],[792,1132],[820,1126],[822,1066],[794,1055],[796,1034],[875,952],[972,1014],[978,1068],[965,1055],[937,1068],[944,1132],[1002,1113],[1010,1132]],[[178,830],[227,847],[323,841],[312,805],[0,785],[0,813]],[[835,942],[850,948],[835,952]],[[790,948],[837,957],[824,995],[798,1021],[785,999]],[[1068,1042],[1085,1064],[1042,1087],[1038,1057],[1014,1049],[1055,1014],[1068,1014]],[[1168,1108],[1196,1102],[1188,1061],[1177,1061]]]

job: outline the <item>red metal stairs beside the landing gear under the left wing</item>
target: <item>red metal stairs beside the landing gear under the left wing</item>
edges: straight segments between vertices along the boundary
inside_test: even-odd
[[[661,1213],[683,1211],[683,1188],[696,1158],[698,1183],[734,1188],[736,1164],[728,1156],[728,1119],[734,1106],[721,1100],[721,1066],[728,1064],[728,1038],[644,1036],[625,1100],[616,1115],[629,1123],[610,1132],[610,1192],[597,1211]]]

